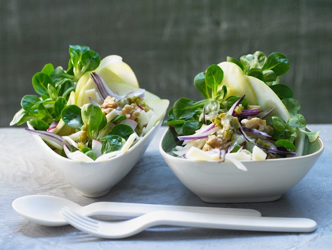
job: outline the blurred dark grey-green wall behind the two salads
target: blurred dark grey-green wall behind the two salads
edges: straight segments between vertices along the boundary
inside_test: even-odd
[[[0,0],[0,126],[34,94],[44,64],[67,65],[68,44],[122,56],[171,105],[201,99],[193,79],[210,64],[277,51],[307,123],[331,123],[331,13],[332,1]]]

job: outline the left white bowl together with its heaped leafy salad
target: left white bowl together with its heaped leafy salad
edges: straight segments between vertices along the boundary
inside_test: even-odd
[[[78,45],[70,45],[69,54],[67,70],[46,64],[33,76],[38,95],[22,98],[10,125],[27,122],[26,130],[62,177],[98,197],[136,164],[169,101],[139,88],[120,56],[100,60]]]

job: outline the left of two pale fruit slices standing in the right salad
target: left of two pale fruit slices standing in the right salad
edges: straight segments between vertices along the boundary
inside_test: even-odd
[[[248,100],[250,105],[257,105],[257,98],[253,88],[250,86],[248,80],[246,79],[246,75],[243,73],[241,68],[237,66],[235,63],[231,62],[222,62],[219,63],[218,66],[224,72],[224,78],[221,82],[227,87],[227,96],[243,96],[246,95],[246,99]]]

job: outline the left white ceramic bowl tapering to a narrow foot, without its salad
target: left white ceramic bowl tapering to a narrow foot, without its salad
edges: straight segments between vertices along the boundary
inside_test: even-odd
[[[55,153],[38,135],[33,135],[46,159],[60,176],[87,197],[96,198],[107,194],[133,168],[159,129],[161,121],[143,138],[120,156],[103,162],[79,162]],[[32,128],[28,124],[29,128]]]

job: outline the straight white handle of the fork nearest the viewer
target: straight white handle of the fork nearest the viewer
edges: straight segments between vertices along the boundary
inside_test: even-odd
[[[306,218],[229,216],[191,212],[157,211],[143,219],[147,227],[156,225],[218,228],[231,230],[270,231],[270,232],[312,232],[316,222]],[[147,228],[146,227],[146,228]]]

